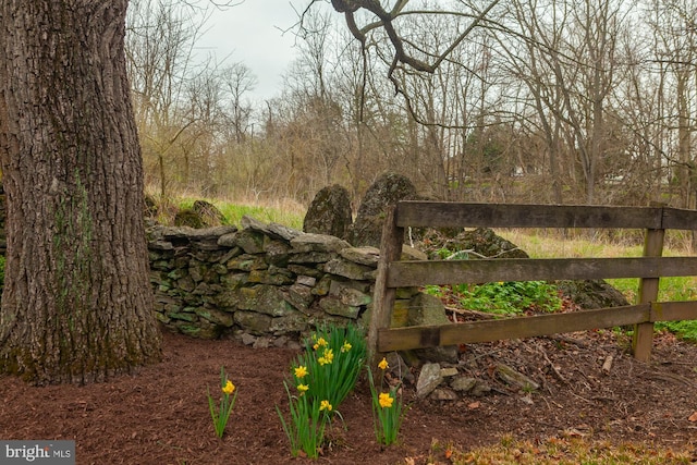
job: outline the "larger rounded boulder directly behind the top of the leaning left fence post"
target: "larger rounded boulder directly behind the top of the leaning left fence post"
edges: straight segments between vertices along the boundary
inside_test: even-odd
[[[380,247],[387,207],[399,200],[416,198],[416,187],[408,178],[391,172],[380,175],[366,191],[356,221],[351,228],[348,242],[356,247]]]

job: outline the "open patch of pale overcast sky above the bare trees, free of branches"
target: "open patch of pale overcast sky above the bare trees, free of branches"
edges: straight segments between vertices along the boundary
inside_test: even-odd
[[[295,36],[290,29],[297,22],[293,5],[302,11],[309,0],[245,0],[216,10],[207,23],[198,48],[228,63],[242,62],[256,75],[254,100],[280,94],[282,74],[295,58]]]

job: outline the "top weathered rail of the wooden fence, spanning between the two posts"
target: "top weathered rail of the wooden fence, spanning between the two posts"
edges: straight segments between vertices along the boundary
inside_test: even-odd
[[[662,208],[405,200],[398,203],[396,223],[402,228],[658,229],[662,223]]]

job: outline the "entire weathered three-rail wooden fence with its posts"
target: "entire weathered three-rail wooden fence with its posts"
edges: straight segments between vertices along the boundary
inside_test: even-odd
[[[645,230],[636,258],[401,261],[404,231],[430,228],[586,228]],[[697,301],[656,302],[661,277],[697,276],[697,257],[662,257],[665,231],[697,230],[697,211],[667,207],[590,207],[400,201],[382,230],[368,348],[391,351],[634,325],[633,353],[647,362],[653,322],[697,319]],[[390,328],[398,287],[499,281],[639,278],[636,305],[430,327]]]

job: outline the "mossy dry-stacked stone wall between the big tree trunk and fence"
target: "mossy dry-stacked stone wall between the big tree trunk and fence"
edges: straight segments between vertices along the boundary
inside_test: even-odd
[[[248,217],[242,230],[155,227],[148,235],[157,317],[171,330],[281,345],[322,322],[367,327],[375,247]]]

